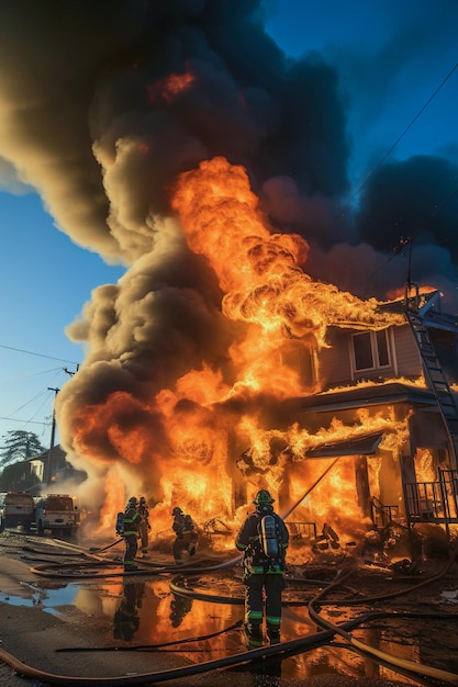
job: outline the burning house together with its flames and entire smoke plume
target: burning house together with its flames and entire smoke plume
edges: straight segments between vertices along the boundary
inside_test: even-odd
[[[56,398],[60,444],[110,530],[132,494],[159,527],[172,504],[235,523],[262,486],[320,523],[453,522],[457,324],[438,292],[390,299],[405,269],[380,270],[380,236],[414,233],[456,169],[386,165],[350,211],[338,72],[287,58],[264,11],[2,3],[2,156],[72,241],[125,266],[68,327],[86,358]],[[396,205],[399,177],[421,188]],[[454,227],[415,249],[416,280],[448,293]]]

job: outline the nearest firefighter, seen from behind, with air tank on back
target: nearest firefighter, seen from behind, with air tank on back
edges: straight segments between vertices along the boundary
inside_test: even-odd
[[[250,514],[242,526],[235,545],[244,552],[243,582],[245,584],[245,622],[244,629],[250,647],[262,644],[264,597],[266,602],[266,630],[271,644],[280,641],[281,593],[286,587],[283,577],[284,555],[289,543],[287,526],[279,515],[273,513],[273,498],[267,489],[260,489],[253,504],[256,511]],[[273,526],[271,550],[266,553],[265,527],[262,519]],[[268,544],[270,547],[270,544]]]

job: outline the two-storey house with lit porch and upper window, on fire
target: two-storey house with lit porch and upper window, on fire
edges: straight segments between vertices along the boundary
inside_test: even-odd
[[[288,421],[295,419],[283,448],[286,482],[295,500],[306,483],[298,473],[313,485],[310,475],[329,465],[301,507],[305,520],[320,514],[345,529],[359,514],[379,527],[427,521],[448,529],[458,521],[457,320],[440,312],[437,291],[380,307],[404,313],[404,323],[333,327],[328,348],[314,358],[306,352],[314,364],[302,367],[304,382],[322,386],[286,402]]]

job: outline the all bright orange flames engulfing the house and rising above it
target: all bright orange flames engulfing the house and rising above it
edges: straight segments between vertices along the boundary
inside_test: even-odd
[[[185,76],[163,82],[163,97],[189,87]],[[205,257],[217,278],[223,314],[237,323],[228,350],[233,378],[203,360],[174,387],[155,390],[149,397],[114,392],[77,413],[75,446],[80,453],[132,468],[138,488],[155,505],[157,527],[166,529],[170,506],[177,503],[199,514],[201,522],[215,516],[237,522],[242,510],[234,500],[234,478],[245,478],[247,503],[259,486],[278,495],[286,480],[290,498],[299,498],[304,483],[323,470],[323,461],[304,461],[322,443],[379,431],[386,449],[396,452],[405,439],[406,418],[396,420],[391,406],[379,413],[361,410],[353,424],[334,418],[312,432],[297,424],[266,428],[262,399],[278,404],[303,394],[298,369],[281,363],[292,341],[316,350],[327,346],[331,325],[378,329],[403,323],[403,316],[382,312],[375,299],[360,301],[313,281],[303,271],[308,243],[272,230],[246,170],[223,157],[182,173],[171,205],[189,248]],[[376,481],[373,470],[371,478]],[[332,513],[338,519],[345,513],[360,522],[351,460],[342,460],[309,502],[317,517]],[[113,507],[105,503],[103,513]]]

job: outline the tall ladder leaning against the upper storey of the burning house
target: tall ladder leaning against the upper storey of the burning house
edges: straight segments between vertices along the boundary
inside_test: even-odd
[[[458,464],[458,407],[454,395],[445,376],[444,370],[437,358],[429,333],[417,309],[412,309],[405,305],[405,316],[413,331],[415,342],[423,361],[423,369],[426,381],[433,391],[437,406],[444,420],[448,435],[455,466]]]

